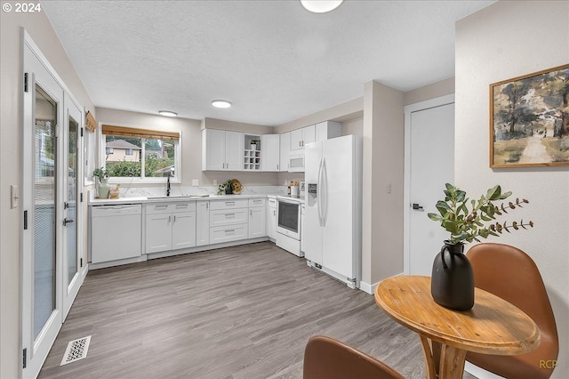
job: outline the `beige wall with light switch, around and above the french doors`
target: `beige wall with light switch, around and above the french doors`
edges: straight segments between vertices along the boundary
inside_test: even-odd
[[[50,61],[52,67],[80,104],[94,111],[93,103],[76,75],[73,65],[43,12],[0,12],[0,377],[15,378],[20,373],[20,225],[21,207],[10,208],[10,185],[20,185],[22,109],[22,38],[20,27]],[[86,228],[86,205],[84,207]],[[86,230],[86,229],[85,229]],[[84,244],[86,246],[86,234]],[[84,249],[86,253],[86,249]],[[84,257],[86,262],[86,256]]]

